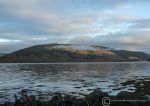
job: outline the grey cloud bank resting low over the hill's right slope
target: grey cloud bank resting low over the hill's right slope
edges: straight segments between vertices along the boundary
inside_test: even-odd
[[[125,49],[125,50],[138,50],[150,52],[150,31],[146,32],[118,32],[115,34],[108,35],[97,35],[94,38],[89,36],[74,37],[70,40],[70,43],[75,44],[92,44],[92,45],[103,45],[111,48]]]

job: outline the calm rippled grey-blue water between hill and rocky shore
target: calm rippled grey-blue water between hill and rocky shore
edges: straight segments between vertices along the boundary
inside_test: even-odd
[[[150,78],[148,62],[0,64],[0,102],[21,89],[29,89],[29,94],[41,99],[49,99],[53,92],[82,97],[95,88],[115,95],[120,90],[134,90],[121,87],[121,82],[146,77]]]

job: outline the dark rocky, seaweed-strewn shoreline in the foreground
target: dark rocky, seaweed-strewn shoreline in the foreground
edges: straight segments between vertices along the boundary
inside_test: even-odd
[[[0,104],[0,106],[150,106],[150,79],[128,80],[123,86],[134,86],[134,92],[121,91],[116,96],[108,95],[100,89],[95,89],[85,98],[77,99],[70,95],[55,93],[51,100],[40,101],[36,96],[28,96],[22,90],[22,96],[14,96],[15,102]]]

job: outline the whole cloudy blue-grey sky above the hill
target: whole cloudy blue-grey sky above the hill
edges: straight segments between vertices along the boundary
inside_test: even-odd
[[[150,0],[0,0],[0,53],[48,43],[150,53]]]

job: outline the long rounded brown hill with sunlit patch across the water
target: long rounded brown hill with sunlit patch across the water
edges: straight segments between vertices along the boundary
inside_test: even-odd
[[[144,52],[114,50],[103,46],[46,44],[25,48],[0,57],[0,62],[125,62],[148,60]]]

